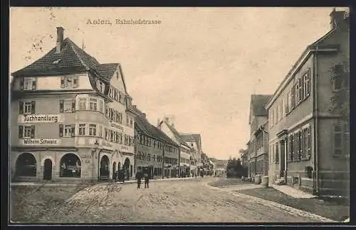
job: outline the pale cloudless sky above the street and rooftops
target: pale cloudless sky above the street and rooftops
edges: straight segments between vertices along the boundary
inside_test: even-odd
[[[250,135],[251,94],[275,92],[306,46],[330,30],[332,10],[11,8],[10,71],[51,50],[62,26],[98,62],[120,62],[127,91],[151,124],[174,115],[177,131],[201,134],[209,157],[239,157]]]

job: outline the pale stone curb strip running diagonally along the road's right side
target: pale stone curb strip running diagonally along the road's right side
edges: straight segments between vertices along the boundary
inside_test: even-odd
[[[219,190],[219,191],[224,191],[224,192],[229,192],[229,191],[226,191],[224,189],[221,189],[219,187],[213,187],[211,185],[208,185],[208,183],[204,183],[204,185],[206,186],[209,186],[215,190]],[[263,205],[266,205],[268,207],[276,207],[278,209],[283,209],[284,211],[287,211],[287,212],[290,212],[291,214],[294,214],[294,215],[297,215],[297,216],[300,216],[300,217],[308,217],[310,219],[315,219],[317,221],[320,221],[320,222],[331,222],[331,223],[338,223],[339,221],[335,221],[333,219],[328,219],[326,217],[322,217],[318,214],[313,214],[311,212],[306,212],[306,211],[303,211],[303,210],[300,210],[300,209],[295,209],[293,207],[290,207],[290,206],[287,206],[287,205],[284,205],[284,204],[279,204],[277,202],[272,202],[272,201],[269,201],[269,200],[266,200],[266,199],[261,199],[261,198],[258,198],[258,197],[253,197],[253,196],[250,196],[250,195],[245,195],[245,194],[241,194],[239,192],[229,192],[231,195],[234,195],[235,197],[240,197],[242,199],[248,199],[248,200],[251,200],[253,202],[258,202],[260,204],[263,204]]]

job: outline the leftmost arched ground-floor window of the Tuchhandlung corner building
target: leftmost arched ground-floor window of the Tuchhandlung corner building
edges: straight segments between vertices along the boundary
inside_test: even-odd
[[[15,175],[23,177],[36,177],[36,158],[31,153],[22,153],[16,160]]]

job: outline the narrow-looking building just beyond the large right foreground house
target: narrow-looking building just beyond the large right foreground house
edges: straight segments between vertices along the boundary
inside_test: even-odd
[[[248,177],[268,174],[268,113],[265,109],[272,95],[251,95],[250,141],[248,141]]]

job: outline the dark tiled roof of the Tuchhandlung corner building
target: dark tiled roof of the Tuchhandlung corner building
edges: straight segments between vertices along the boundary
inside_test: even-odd
[[[17,76],[51,76],[66,75],[76,72],[88,72],[90,84],[96,89],[95,80],[100,78],[105,83],[110,83],[119,63],[100,64],[95,57],[75,45],[72,40],[63,40],[61,52],[56,53],[56,47],[46,55],[39,58],[31,65],[18,70],[12,75]],[[105,92],[108,92],[108,85]]]

